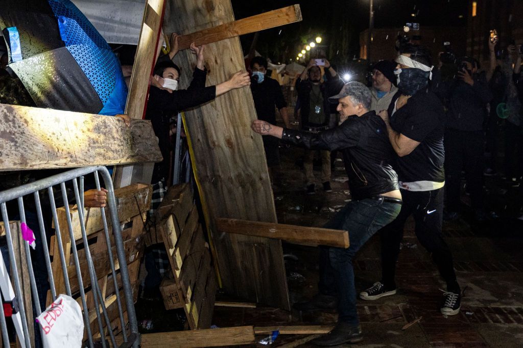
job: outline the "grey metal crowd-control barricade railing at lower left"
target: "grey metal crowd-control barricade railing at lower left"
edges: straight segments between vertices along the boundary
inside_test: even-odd
[[[84,319],[84,330],[87,332],[87,342],[83,343],[83,346],[89,346],[94,347],[95,346],[95,339],[93,337],[93,332],[90,325],[90,319],[89,319],[89,308],[87,306],[86,302],[86,296],[84,292],[84,283],[82,280],[82,272],[80,269],[80,263],[78,259],[78,250],[77,246],[75,244],[75,238],[74,238],[74,231],[73,231],[73,223],[71,220],[71,214],[69,209],[69,200],[67,198],[67,188],[66,183],[72,182],[73,184],[73,191],[74,191],[74,197],[75,201],[77,203],[78,209],[78,218],[81,226],[82,231],[82,241],[85,249],[85,259],[87,260],[87,266],[88,266],[88,272],[89,272],[89,280],[90,280],[90,287],[92,290],[92,298],[94,300],[94,310],[96,313],[99,333],[100,333],[100,340],[101,340],[101,346],[107,347],[108,344],[112,347],[117,347],[117,340],[115,338],[115,335],[112,331],[111,327],[111,320],[109,319],[107,308],[105,306],[105,298],[100,290],[100,286],[98,284],[98,278],[96,275],[93,258],[90,254],[90,250],[88,247],[88,240],[87,235],[85,231],[85,219],[84,219],[84,196],[83,196],[83,189],[84,189],[84,176],[86,175],[94,175],[94,180],[96,184],[96,188],[100,189],[100,181],[98,177],[98,173],[101,174],[105,188],[107,189],[107,208],[108,208],[108,215],[110,217],[110,222],[112,225],[112,236],[114,240],[115,250],[118,257],[118,263],[119,263],[119,270],[120,270],[120,279],[121,279],[121,286],[123,290],[123,296],[124,300],[126,302],[126,310],[127,310],[127,318],[129,321],[129,334],[126,332],[126,320],[124,319],[124,311],[122,308],[122,299],[120,298],[120,291],[119,285],[117,284],[117,274],[116,274],[116,267],[114,258],[111,251],[111,236],[108,228],[108,223],[106,220],[106,212],[105,208],[99,208],[101,209],[101,219],[103,221],[103,227],[104,227],[104,233],[105,233],[105,239],[106,239],[106,245],[107,245],[107,253],[108,253],[108,259],[109,264],[111,268],[112,273],[112,280],[114,282],[114,286],[116,289],[116,302],[118,306],[118,315],[119,315],[119,321],[121,323],[122,328],[122,337],[121,341],[123,343],[120,344],[120,347],[130,347],[135,346],[138,347],[139,344],[139,333],[138,333],[138,324],[137,319],[134,311],[134,303],[133,303],[133,293],[131,289],[131,284],[129,281],[129,272],[127,269],[127,261],[126,261],[126,252],[124,250],[124,246],[122,243],[122,235],[121,235],[121,227],[120,227],[120,221],[118,218],[118,212],[117,212],[117,202],[114,195],[114,190],[112,186],[112,181],[110,174],[106,167],[98,166],[98,167],[84,167],[84,168],[78,168],[71,171],[67,171],[58,175],[50,176],[45,179],[41,179],[39,181],[22,185],[16,188],[8,189],[5,191],[0,192],[0,209],[2,211],[2,219],[4,223],[4,230],[6,235],[6,244],[8,249],[8,261],[9,265],[12,269],[12,272],[8,271],[8,267],[6,267],[6,262],[4,262],[4,257],[0,257],[0,290],[2,292],[2,297],[5,301],[8,301],[13,304],[14,312],[13,312],[13,323],[16,330],[16,335],[19,339],[20,345],[22,347],[30,347],[31,343],[29,340],[29,325],[34,325],[33,322],[28,322],[27,316],[26,316],[26,306],[23,301],[22,291],[21,291],[21,285],[20,285],[20,279],[18,277],[18,270],[17,270],[17,260],[15,258],[15,253],[13,249],[13,238],[10,231],[9,226],[9,215],[8,215],[8,209],[6,203],[12,200],[16,200],[18,203],[18,219],[20,221],[20,225],[26,224],[26,211],[24,209],[24,199],[27,201],[30,198],[30,195],[33,196],[33,200],[35,202],[35,210],[36,215],[38,218],[38,227],[40,230],[40,236],[41,236],[41,243],[43,247],[43,253],[44,253],[44,259],[45,260],[39,260],[44,261],[47,268],[47,275],[50,285],[50,291],[52,296],[52,301],[54,301],[59,294],[56,293],[56,287],[54,284],[53,279],[53,273],[51,270],[51,259],[50,259],[50,253],[49,253],[49,246],[47,243],[47,234],[46,234],[46,228],[44,224],[44,215],[42,213],[42,203],[40,201],[40,191],[47,190],[47,193],[49,195],[49,207],[52,212],[52,219],[54,223],[54,231],[56,235],[56,241],[58,242],[58,253],[59,255],[56,255],[56,249],[55,253],[53,255],[53,258],[60,257],[61,265],[62,265],[62,272],[63,272],[63,278],[65,282],[65,289],[66,289],[66,295],[72,296],[71,294],[71,285],[69,282],[69,277],[67,274],[67,265],[65,263],[65,256],[64,256],[64,246],[62,245],[61,241],[61,234],[62,233],[69,233],[71,237],[71,248],[72,248],[72,254],[73,254],[73,260],[75,264],[76,269],[76,277],[79,285],[79,292],[82,302],[82,308],[83,308],[83,319]],[[60,231],[60,224],[58,221],[58,216],[56,213],[56,204],[55,204],[55,197],[54,197],[54,189],[53,186],[60,186],[61,193],[62,193],[62,200],[63,205],[66,211],[66,217],[67,217],[67,230],[68,231]],[[33,270],[33,263],[31,262],[31,253],[29,249],[29,242],[24,242],[24,249],[25,249],[25,256],[26,260],[19,260],[19,262],[26,262],[28,273],[29,273],[29,279],[30,279],[30,289],[32,293],[32,300],[34,302],[33,310],[35,311],[36,317],[38,317],[41,314],[41,304],[38,294],[38,288],[35,281],[35,273]],[[82,256],[82,257],[84,257]],[[10,274],[9,274],[10,273]],[[14,289],[13,289],[14,285]],[[100,310],[101,309],[101,310]],[[105,321],[109,339],[110,342],[106,342],[105,338],[105,330],[103,321]],[[4,306],[2,303],[2,299],[0,298],[0,326],[2,328],[2,339],[4,343],[4,347],[9,346],[9,335],[7,330],[7,322],[5,319],[4,314]],[[38,326],[40,329],[40,326]],[[42,334],[42,331],[40,331]],[[83,335],[84,333],[82,333]],[[83,336],[84,337],[84,336]],[[119,338],[120,340],[120,338]]]

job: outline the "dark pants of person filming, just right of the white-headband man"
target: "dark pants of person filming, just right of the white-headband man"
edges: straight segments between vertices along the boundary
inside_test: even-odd
[[[465,170],[472,208],[483,208],[483,166],[485,135],[482,130],[445,131],[445,184],[447,210],[459,211],[461,171]]]

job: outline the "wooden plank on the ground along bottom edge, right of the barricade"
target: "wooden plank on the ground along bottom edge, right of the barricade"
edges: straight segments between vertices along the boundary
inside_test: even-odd
[[[254,329],[252,326],[234,328],[203,329],[191,331],[172,331],[158,333],[144,333],[140,335],[142,347],[219,347],[255,343]],[[116,343],[123,342],[121,337],[116,337]]]

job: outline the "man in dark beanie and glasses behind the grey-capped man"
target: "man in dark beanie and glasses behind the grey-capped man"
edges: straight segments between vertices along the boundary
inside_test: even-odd
[[[380,112],[389,107],[392,97],[397,92],[395,86],[394,64],[391,61],[379,61],[372,67],[372,102],[370,110]]]

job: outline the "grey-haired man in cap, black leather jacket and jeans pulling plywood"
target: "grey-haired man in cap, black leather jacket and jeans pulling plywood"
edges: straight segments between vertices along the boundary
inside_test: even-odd
[[[353,258],[381,227],[395,219],[401,210],[401,194],[392,169],[393,149],[385,123],[369,111],[371,94],[360,82],[347,83],[332,97],[338,100],[340,126],[319,134],[291,130],[256,120],[256,133],[281,138],[306,149],[339,150],[353,198],[324,227],[349,231],[347,249],[322,247],[320,253],[320,294],[297,309],[329,309],[338,299],[338,324],[331,333],[313,341],[317,345],[337,345],[362,340],[356,311]],[[336,295],[334,297],[333,295]]]

